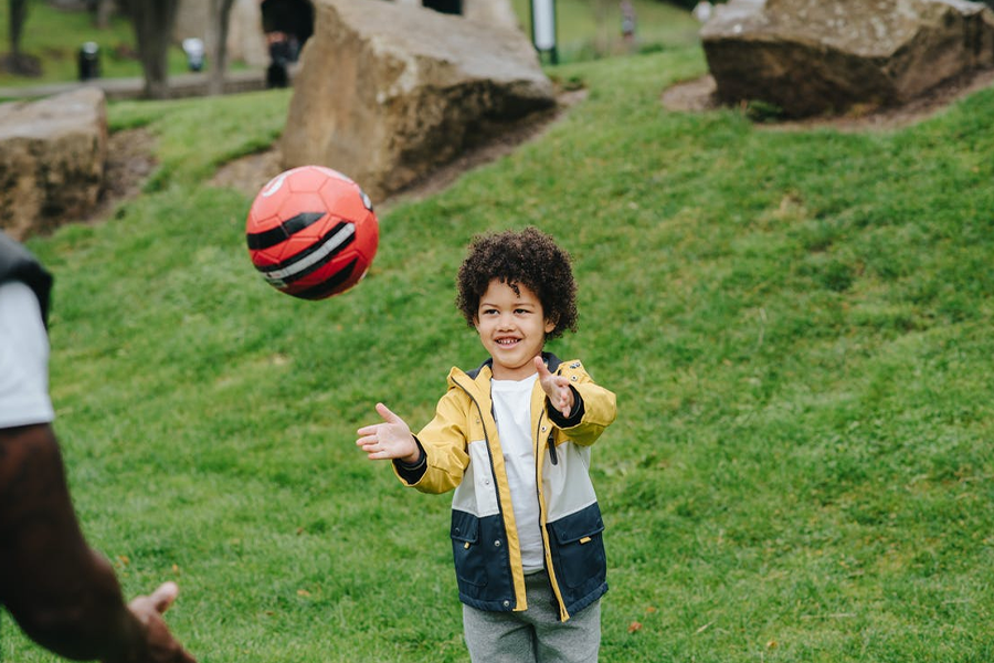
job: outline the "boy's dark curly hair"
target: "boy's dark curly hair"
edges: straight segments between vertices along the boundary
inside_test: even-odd
[[[546,338],[559,338],[577,330],[577,282],[570,255],[537,228],[507,230],[473,238],[469,253],[459,266],[456,306],[470,327],[475,326],[479,299],[493,280],[508,284],[516,294],[518,284],[536,294],[547,320],[556,327]]]

